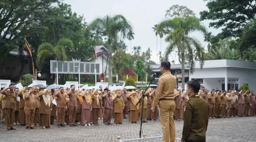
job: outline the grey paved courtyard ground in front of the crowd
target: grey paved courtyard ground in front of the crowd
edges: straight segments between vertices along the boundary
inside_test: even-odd
[[[101,120],[100,120],[101,121]],[[116,142],[117,136],[122,139],[139,137],[140,124],[131,124],[127,119],[122,125],[79,126],[57,128],[52,125],[49,130],[36,128],[27,130],[22,126],[15,126],[17,130],[7,131],[4,124],[0,124],[0,142]],[[183,121],[175,121],[176,137],[181,138]],[[160,122],[143,123],[143,133],[147,136],[161,136]],[[158,140],[148,140],[156,142]],[[207,142],[255,142],[256,117],[235,117],[210,119]],[[133,141],[138,142],[138,141]],[[177,141],[178,142],[178,141]]]

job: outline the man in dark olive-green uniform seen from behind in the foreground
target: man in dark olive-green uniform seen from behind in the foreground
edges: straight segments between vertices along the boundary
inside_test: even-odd
[[[200,83],[197,80],[187,82],[190,99],[185,104],[182,142],[205,142],[208,126],[208,102],[198,95]]]

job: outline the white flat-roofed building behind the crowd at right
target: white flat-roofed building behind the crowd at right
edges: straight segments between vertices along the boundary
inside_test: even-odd
[[[256,91],[256,62],[235,60],[207,60],[203,69],[200,69],[199,61],[195,62],[191,79],[203,79],[203,86],[212,90],[237,90],[243,84],[247,84],[252,91]]]

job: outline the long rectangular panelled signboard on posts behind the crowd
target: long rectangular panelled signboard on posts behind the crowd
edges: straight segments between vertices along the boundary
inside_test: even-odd
[[[100,74],[100,64],[51,60],[51,73],[57,74],[57,72],[58,74]]]

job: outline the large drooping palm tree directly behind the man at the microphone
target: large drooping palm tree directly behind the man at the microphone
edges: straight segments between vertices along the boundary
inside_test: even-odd
[[[201,44],[194,38],[188,36],[189,33],[194,31],[200,31],[203,34],[207,33],[204,26],[200,24],[200,20],[195,16],[188,16],[186,18],[174,17],[171,20],[165,20],[161,22],[157,31],[163,31],[163,29],[170,29],[168,37],[171,37],[171,42],[165,51],[165,60],[168,60],[169,54],[174,48],[180,48],[181,61],[182,61],[182,87],[185,87],[185,52],[187,51],[188,63],[190,65],[190,71],[193,73],[194,69],[194,50],[195,54],[200,61],[200,67],[203,67],[204,51]]]

